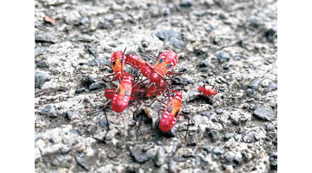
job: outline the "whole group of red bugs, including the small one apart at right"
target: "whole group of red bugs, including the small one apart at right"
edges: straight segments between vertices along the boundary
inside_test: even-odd
[[[140,56],[153,60],[156,62],[155,65],[150,64],[150,62],[147,62]],[[171,71],[177,64],[179,57],[171,50],[159,52],[157,60],[150,55],[140,56],[125,54],[125,50],[112,53],[111,66],[107,64],[106,66],[110,67],[114,73],[106,77],[109,78],[112,76],[113,78],[110,79],[111,84],[113,84],[112,82],[114,80],[118,80],[119,85],[116,86],[113,84],[116,89],[106,89],[104,96],[110,100],[109,102],[112,104],[112,110],[120,113],[128,107],[130,100],[138,102],[140,106],[142,100],[166,93],[164,96],[168,97],[168,104],[157,98],[155,98],[155,100],[166,105],[166,109],[159,110],[162,111],[162,117],[159,120],[158,127],[161,131],[168,132],[177,122],[179,115],[189,119],[188,116],[180,113],[182,108],[182,92],[180,90],[171,89],[171,86],[173,86],[173,77],[182,74]],[[132,73],[124,71],[126,64],[132,66]],[[140,71],[139,75],[137,71]],[[205,86],[198,87],[198,91],[207,97],[216,95],[217,93],[214,89],[205,89]],[[175,95],[171,98],[170,93],[175,93]],[[153,102],[155,102],[155,100],[153,100]],[[109,102],[107,102],[107,104]],[[146,106],[150,106],[153,102]],[[137,108],[139,108],[139,106]]]

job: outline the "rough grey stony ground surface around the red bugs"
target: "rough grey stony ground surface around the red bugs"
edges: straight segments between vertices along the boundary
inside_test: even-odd
[[[126,46],[179,55],[187,138],[182,117],[159,134],[159,103],[153,122],[109,107],[107,129],[105,64]],[[277,172],[277,1],[35,1],[35,170]]]

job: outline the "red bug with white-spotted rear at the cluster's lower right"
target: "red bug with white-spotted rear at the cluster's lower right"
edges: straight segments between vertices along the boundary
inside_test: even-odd
[[[177,122],[179,112],[182,107],[182,93],[181,91],[175,91],[175,96],[169,101],[166,109],[162,113],[162,119],[159,121],[159,129],[168,132]]]

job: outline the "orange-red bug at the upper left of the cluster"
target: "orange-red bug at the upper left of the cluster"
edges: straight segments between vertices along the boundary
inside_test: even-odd
[[[114,73],[112,73],[111,75],[107,75],[106,78],[108,78],[112,75],[116,75],[114,78],[112,78],[111,81],[118,79],[119,82],[121,82],[125,75],[130,75],[129,73],[123,71],[123,68],[125,66],[124,55],[125,55],[125,50],[123,52],[122,51],[116,51],[116,52],[112,53],[112,57],[110,57],[110,62],[112,64],[112,66],[109,66],[107,64],[105,64],[105,65],[110,67],[110,69],[112,69],[114,71]]]

